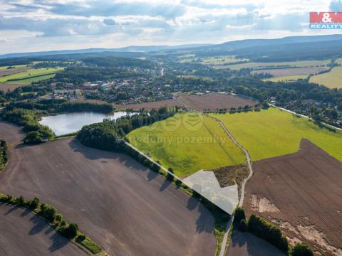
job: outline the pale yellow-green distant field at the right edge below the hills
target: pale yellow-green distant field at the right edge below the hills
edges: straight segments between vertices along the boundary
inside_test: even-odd
[[[332,68],[330,72],[314,75],[310,82],[316,82],[329,88],[342,88],[342,66]]]

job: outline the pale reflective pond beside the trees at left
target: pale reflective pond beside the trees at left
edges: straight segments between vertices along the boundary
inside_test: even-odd
[[[126,114],[132,113],[114,112],[113,114],[101,114],[96,112],[76,112],[42,117],[39,123],[47,125],[57,136],[59,136],[71,132],[78,132],[83,126],[102,122],[105,118],[118,119]]]

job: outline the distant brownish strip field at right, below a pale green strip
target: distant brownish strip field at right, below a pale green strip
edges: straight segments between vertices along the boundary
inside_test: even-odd
[[[287,75],[310,75],[316,74],[323,70],[326,70],[326,67],[306,67],[306,68],[276,68],[276,69],[267,69],[267,70],[253,70],[252,74],[257,73],[269,73],[274,76],[274,78],[283,77]]]

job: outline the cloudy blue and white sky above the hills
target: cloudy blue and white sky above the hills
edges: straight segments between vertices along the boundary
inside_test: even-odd
[[[342,0],[0,0],[0,54],[342,33],[310,30],[309,11]]]

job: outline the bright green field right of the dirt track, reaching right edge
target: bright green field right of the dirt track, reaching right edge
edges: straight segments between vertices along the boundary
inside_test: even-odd
[[[304,117],[275,108],[212,115],[224,122],[254,161],[294,153],[299,150],[301,139],[309,139],[342,161],[342,133],[320,128]]]

